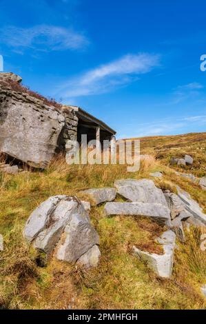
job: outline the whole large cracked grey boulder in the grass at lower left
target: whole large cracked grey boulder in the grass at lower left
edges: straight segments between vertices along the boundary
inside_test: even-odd
[[[55,248],[59,260],[74,263],[85,255],[85,266],[95,263],[92,257],[99,248],[96,246],[94,252],[90,249],[99,244],[99,235],[76,196],[52,196],[41,203],[30,215],[23,234],[29,243],[47,254]]]

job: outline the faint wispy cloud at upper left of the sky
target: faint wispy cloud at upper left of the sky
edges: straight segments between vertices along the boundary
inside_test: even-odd
[[[85,47],[88,40],[72,28],[38,25],[30,28],[5,26],[0,28],[0,43],[8,45],[16,51],[25,48],[35,50],[77,50]]]

